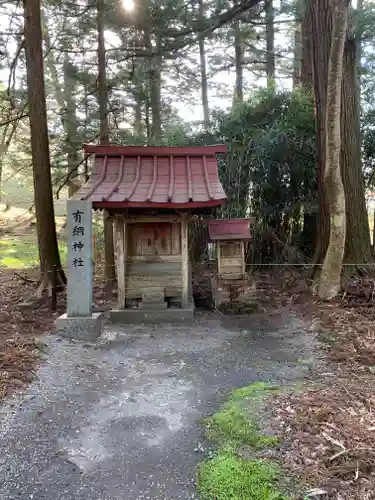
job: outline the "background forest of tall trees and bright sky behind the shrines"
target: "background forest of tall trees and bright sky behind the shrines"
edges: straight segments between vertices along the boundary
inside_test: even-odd
[[[34,184],[42,272],[61,267],[42,244],[49,197],[63,215],[89,174],[82,145],[99,141],[224,142],[221,215],[256,215],[255,262],[310,263],[311,276],[324,264],[327,298],[343,258],[370,269],[371,1],[3,0],[0,14],[1,196],[28,209]]]

